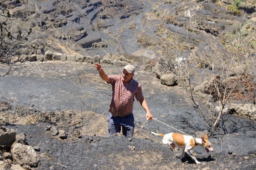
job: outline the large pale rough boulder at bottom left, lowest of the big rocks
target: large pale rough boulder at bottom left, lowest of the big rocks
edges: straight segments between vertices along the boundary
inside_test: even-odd
[[[11,152],[13,160],[21,166],[37,166],[37,153],[31,146],[15,142],[12,144]]]

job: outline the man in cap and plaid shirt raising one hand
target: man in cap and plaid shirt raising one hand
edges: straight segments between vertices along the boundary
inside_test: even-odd
[[[103,71],[99,63],[94,63],[99,71],[100,78],[112,85],[112,99],[108,112],[108,136],[123,130],[123,135],[132,137],[134,131],[134,117],[132,114],[134,96],[140,105],[145,109],[146,119],[151,120],[153,116],[149,111],[148,104],[143,97],[140,84],[134,80],[135,68],[132,65],[126,65],[122,75],[108,76]]]

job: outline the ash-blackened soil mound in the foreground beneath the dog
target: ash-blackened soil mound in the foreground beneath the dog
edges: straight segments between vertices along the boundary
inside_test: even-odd
[[[190,158],[180,160],[180,151],[147,139],[124,136],[87,136],[61,140],[44,131],[48,124],[8,126],[17,133],[26,132],[28,144],[39,145],[39,164],[34,169],[255,169],[255,152],[229,155],[227,152],[202,153],[196,165]],[[139,129],[137,134],[148,133]],[[161,138],[159,138],[160,142]],[[132,148],[132,149],[131,149]],[[134,149],[133,149],[134,148]],[[196,150],[197,148],[195,148]],[[176,157],[175,157],[176,156]]]

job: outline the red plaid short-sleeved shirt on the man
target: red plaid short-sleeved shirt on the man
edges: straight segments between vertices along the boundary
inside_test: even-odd
[[[124,86],[122,76],[108,76],[108,83],[112,85],[112,99],[108,112],[114,117],[124,117],[132,113],[134,96],[137,101],[144,99],[140,83],[132,80]]]

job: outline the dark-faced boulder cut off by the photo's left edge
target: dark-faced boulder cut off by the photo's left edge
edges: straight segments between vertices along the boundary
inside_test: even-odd
[[[12,145],[15,142],[16,132],[13,129],[0,126],[0,145]]]

